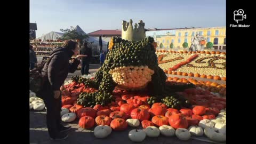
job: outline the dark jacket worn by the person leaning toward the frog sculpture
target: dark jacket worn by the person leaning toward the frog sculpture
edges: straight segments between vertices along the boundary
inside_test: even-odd
[[[42,69],[43,79],[49,83],[51,90],[60,90],[60,86],[64,83],[68,73],[74,73],[79,65],[77,59],[73,63],[69,63],[73,51],[58,47],[51,53],[50,62],[46,62]]]

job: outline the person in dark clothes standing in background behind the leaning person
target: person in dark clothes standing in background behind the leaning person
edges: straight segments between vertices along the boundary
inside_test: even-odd
[[[90,58],[92,57],[92,50],[90,47],[87,46],[87,43],[84,43],[84,46],[80,50],[80,54],[87,55],[87,57],[82,58],[81,63],[81,74],[82,75],[88,75],[89,73],[89,67],[90,67]]]

